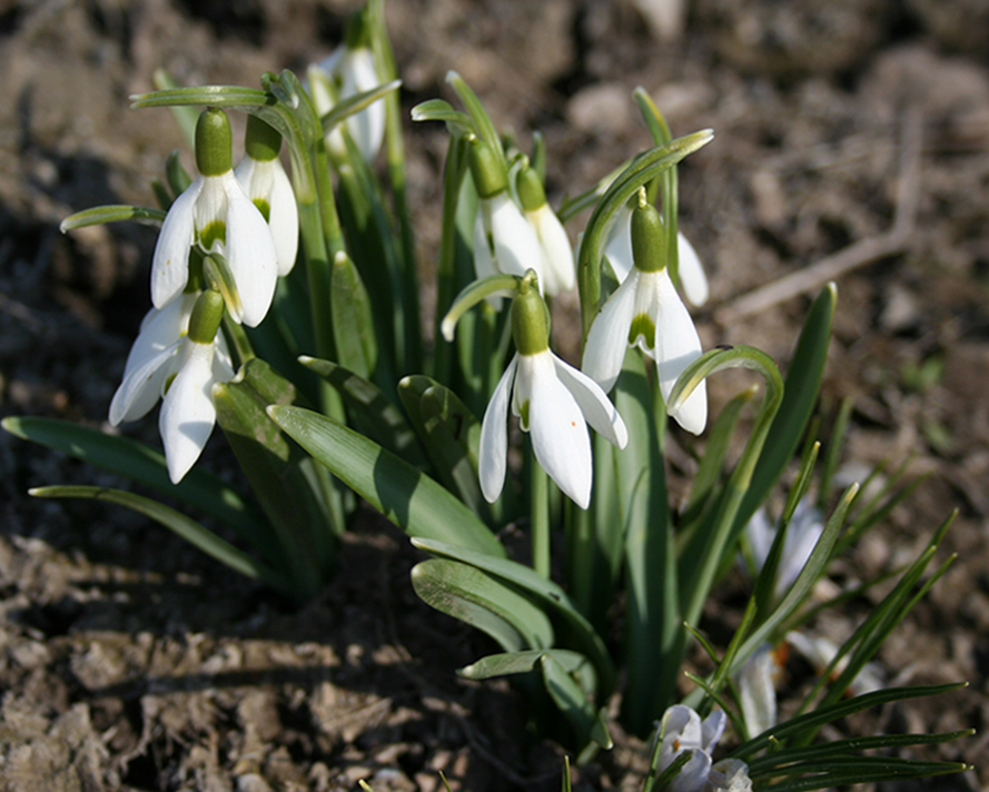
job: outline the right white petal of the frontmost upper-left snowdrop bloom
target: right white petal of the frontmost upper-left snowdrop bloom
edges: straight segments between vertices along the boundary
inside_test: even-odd
[[[261,212],[234,179],[233,174],[225,187],[228,201],[227,266],[240,296],[244,313],[239,318],[248,327],[257,327],[268,313],[275,296],[278,279],[275,240]]]

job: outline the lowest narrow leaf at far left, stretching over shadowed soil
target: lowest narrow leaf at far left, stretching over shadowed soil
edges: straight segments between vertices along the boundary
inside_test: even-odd
[[[184,539],[201,550],[207,555],[226,564],[245,577],[260,581],[276,591],[294,596],[296,588],[280,573],[267,565],[251,558],[247,553],[237,550],[234,545],[221,539],[211,531],[207,531],[199,523],[190,519],[180,512],[169,508],[165,504],[152,501],[142,495],[123,492],[121,489],[107,489],[93,486],[50,486],[34,487],[28,493],[34,497],[78,497],[93,501],[106,501],[119,506],[126,506],[156,523],[174,531]]]

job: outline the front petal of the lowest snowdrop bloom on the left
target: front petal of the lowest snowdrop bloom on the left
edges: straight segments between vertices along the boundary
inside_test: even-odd
[[[186,340],[187,354],[158,415],[168,475],[178,484],[189,472],[216,424],[212,404],[212,344]]]

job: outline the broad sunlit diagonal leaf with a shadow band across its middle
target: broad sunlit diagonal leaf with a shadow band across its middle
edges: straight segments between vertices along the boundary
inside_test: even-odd
[[[303,448],[409,536],[503,557],[486,525],[442,485],[377,443],[318,413],[273,405],[268,415]]]

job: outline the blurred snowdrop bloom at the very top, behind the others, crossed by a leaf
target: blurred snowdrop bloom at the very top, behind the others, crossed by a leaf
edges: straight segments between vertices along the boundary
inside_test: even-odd
[[[338,101],[382,85],[374,51],[370,49],[369,30],[360,12],[350,18],[346,44],[309,67],[308,76],[309,92],[320,116],[329,112]],[[367,162],[374,160],[385,138],[384,101],[379,99],[347,117],[345,123],[360,156]],[[326,145],[337,155],[346,156],[347,146],[338,128],[327,133]]]

